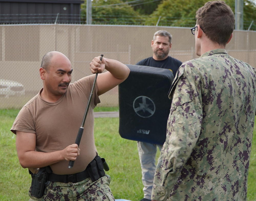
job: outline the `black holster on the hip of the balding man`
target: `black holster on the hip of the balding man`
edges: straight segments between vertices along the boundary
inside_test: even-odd
[[[29,173],[32,177],[31,195],[41,198],[44,194],[45,188],[50,184],[50,181],[47,181],[47,177],[48,173],[51,173],[51,169],[47,166],[40,168],[37,174],[33,174],[30,170]]]

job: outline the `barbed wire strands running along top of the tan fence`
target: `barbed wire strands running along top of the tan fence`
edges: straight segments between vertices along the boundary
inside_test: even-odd
[[[182,23],[181,23],[182,22]],[[2,14],[0,24],[86,24],[84,14]],[[95,25],[140,25],[193,27],[195,18],[177,18],[168,16],[126,16],[126,15],[92,15]],[[256,30],[254,21],[243,22],[245,30]]]

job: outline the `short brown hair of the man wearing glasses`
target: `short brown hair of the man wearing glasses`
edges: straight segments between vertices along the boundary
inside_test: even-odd
[[[209,1],[196,12],[197,24],[213,42],[226,45],[234,30],[235,17],[223,1]]]

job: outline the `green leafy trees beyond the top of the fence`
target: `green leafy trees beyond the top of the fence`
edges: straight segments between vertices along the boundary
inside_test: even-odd
[[[158,26],[193,27],[197,9],[206,2],[208,0],[93,0],[92,24],[155,26],[161,16]],[[234,12],[235,0],[225,2]],[[153,7],[149,9],[151,5]],[[250,30],[256,30],[255,3],[253,0],[244,0],[243,8],[244,29],[247,30],[254,20]],[[152,14],[146,15],[150,12]],[[86,4],[81,5],[81,18],[86,21]]]

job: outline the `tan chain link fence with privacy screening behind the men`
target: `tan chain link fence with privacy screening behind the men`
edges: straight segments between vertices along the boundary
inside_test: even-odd
[[[198,58],[189,28],[164,26],[20,24],[0,25],[0,109],[20,109],[42,88],[39,68],[49,51],[60,51],[71,61],[74,82],[91,75],[90,62],[104,55],[136,64],[153,55],[151,40],[158,30],[172,36],[169,55],[180,61]],[[256,66],[256,32],[234,31],[228,53]],[[138,86],[139,87],[139,86]],[[100,96],[99,106],[118,106],[118,87]]]

